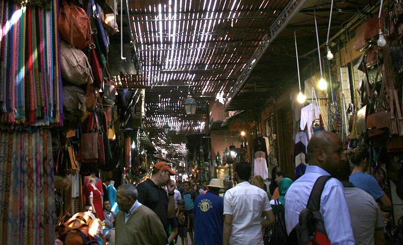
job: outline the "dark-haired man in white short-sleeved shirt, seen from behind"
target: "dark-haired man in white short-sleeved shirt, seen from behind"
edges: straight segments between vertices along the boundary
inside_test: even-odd
[[[274,214],[267,193],[251,185],[249,162],[235,165],[234,178],[237,185],[224,195],[223,245],[263,245],[262,228],[274,224]],[[267,219],[262,222],[264,214]]]

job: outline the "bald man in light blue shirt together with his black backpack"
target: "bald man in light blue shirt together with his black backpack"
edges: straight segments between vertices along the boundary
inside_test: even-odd
[[[289,244],[354,244],[342,183],[348,164],[340,138],[320,131],[308,143],[309,166],[285,195]],[[333,178],[335,177],[335,178]]]

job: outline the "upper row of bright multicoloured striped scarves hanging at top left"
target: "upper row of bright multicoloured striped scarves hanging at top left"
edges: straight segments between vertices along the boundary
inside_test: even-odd
[[[0,123],[63,124],[59,1],[50,11],[0,4]]]

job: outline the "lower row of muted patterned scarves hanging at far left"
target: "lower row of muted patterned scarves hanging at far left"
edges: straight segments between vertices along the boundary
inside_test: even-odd
[[[48,130],[0,132],[0,243],[55,240],[52,138]]]

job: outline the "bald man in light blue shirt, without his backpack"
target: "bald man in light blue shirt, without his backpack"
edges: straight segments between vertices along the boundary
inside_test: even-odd
[[[299,221],[300,212],[306,208],[309,195],[316,180],[320,176],[339,178],[345,173],[348,162],[343,154],[340,138],[333,133],[320,131],[312,136],[308,143],[305,174],[296,180],[285,194],[285,220],[287,233],[290,234]],[[320,213],[325,224],[326,234],[332,245],[354,244],[348,211],[342,183],[329,179],[323,189],[320,203]],[[293,234],[290,238],[294,238]],[[294,243],[290,243],[294,244]]]

